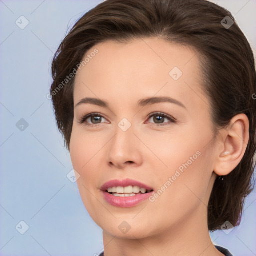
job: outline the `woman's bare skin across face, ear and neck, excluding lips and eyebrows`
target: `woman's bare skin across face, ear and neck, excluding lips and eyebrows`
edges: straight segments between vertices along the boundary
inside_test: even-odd
[[[93,97],[109,107],[74,107],[70,156],[80,175],[81,199],[103,229],[105,256],[223,255],[209,236],[207,204],[216,174],[228,174],[242,159],[246,115],[236,115],[214,143],[209,99],[201,90],[199,59],[192,48],[156,37],[125,44],[106,41],[88,52],[95,48],[98,53],[76,74],[74,105]],[[169,75],[173,67],[183,72],[176,81]],[[137,107],[139,99],[152,96],[172,97],[184,107],[169,102]],[[104,117],[87,118],[93,127],[79,123],[94,112]],[[153,112],[176,122],[148,118]],[[122,118],[131,123],[127,131],[118,126]],[[122,208],[104,200],[99,188],[112,179],[131,178],[159,190],[197,151],[200,156],[154,202]],[[118,228],[123,221],[130,226],[126,233]]]

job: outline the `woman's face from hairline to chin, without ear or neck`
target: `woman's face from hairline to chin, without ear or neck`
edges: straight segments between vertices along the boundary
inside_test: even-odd
[[[106,41],[85,57],[75,78],[70,155],[92,219],[109,234],[131,238],[207,221],[216,150],[196,52],[150,37]],[[142,184],[102,188],[126,179]],[[122,188],[105,191],[128,185],[124,197]],[[142,194],[143,188],[153,191]]]

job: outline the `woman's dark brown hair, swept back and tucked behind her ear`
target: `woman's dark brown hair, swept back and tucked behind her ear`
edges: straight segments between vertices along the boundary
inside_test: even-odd
[[[230,27],[224,25],[227,21]],[[52,102],[65,145],[69,149],[75,78],[69,81],[66,76],[77,70],[84,54],[96,43],[128,42],[150,36],[192,46],[200,56],[203,89],[210,99],[216,133],[236,114],[244,113],[249,119],[245,154],[225,180],[215,180],[208,204],[209,230],[220,229],[226,220],[236,226],[240,223],[244,199],[253,189],[255,64],[250,45],[232,14],[214,3],[106,0],[85,13],[61,42],[52,61]]]

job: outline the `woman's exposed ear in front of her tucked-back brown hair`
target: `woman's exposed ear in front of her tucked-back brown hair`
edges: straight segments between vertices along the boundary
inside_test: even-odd
[[[221,141],[217,151],[214,172],[219,176],[229,174],[241,161],[249,141],[249,120],[237,114],[227,128],[220,131]]]

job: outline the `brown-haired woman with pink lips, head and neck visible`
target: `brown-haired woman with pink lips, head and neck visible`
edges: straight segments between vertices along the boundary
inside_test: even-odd
[[[52,62],[52,101],[100,255],[231,255],[255,162],[255,66],[206,0],[106,0]]]

